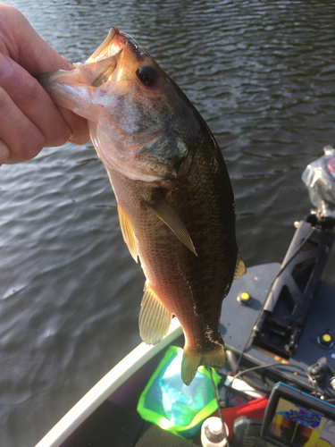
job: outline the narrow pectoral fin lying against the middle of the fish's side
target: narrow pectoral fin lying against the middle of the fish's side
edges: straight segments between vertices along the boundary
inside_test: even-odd
[[[184,223],[181,222],[180,216],[177,215],[170,203],[168,203],[163,197],[157,196],[155,198],[155,202],[145,202],[145,205],[150,209],[150,211],[159,217],[163,223],[167,224],[180,242],[186,245],[186,247],[197,256],[197,251],[194,248],[193,242],[188,234],[188,230],[186,229]]]

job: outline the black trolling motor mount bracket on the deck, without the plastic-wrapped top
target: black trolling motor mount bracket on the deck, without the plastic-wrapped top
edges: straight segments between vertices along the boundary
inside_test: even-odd
[[[297,350],[335,240],[335,219],[300,221],[255,325],[253,346],[289,359]],[[331,335],[330,335],[331,337]]]

